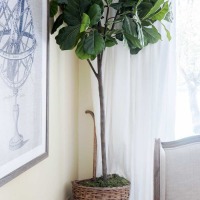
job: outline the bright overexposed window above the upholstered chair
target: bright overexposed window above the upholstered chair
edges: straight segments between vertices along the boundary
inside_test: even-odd
[[[177,0],[176,138],[200,134],[200,0]]]

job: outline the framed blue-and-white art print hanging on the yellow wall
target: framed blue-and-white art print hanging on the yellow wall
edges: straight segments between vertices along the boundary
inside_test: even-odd
[[[48,1],[0,0],[0,186],[48,154]]]

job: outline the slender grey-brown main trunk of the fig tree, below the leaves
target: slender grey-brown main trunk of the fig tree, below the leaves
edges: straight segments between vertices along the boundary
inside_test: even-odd
[[[98,86],[99,86],[99,100],[100,100],[100,120],[101,120],[101,156],[102,156],[102,170],[103,178],[107,179],[107,160],[106,160],[106,141],[105,141],[105,108],[104,108],[104,91],[102,80],[102,55],[98,55]]]

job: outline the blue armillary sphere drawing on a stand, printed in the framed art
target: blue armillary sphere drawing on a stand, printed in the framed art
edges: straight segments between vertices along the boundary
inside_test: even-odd
[[[34,60],[36,39],[28,0],[0,0],[0,74],[14,96],[14,136],[10,150],[24,144],[18,131],[18,91],[26,82]]]

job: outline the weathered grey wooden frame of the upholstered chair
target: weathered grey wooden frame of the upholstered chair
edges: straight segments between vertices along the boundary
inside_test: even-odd
[[[155,140],[154,147],[154,200],[160,200],[160,150],[168,148],[176,148],[188,144],[200,142],[200,135],[195,135],[171,142],[161,142],[160,139]]]

